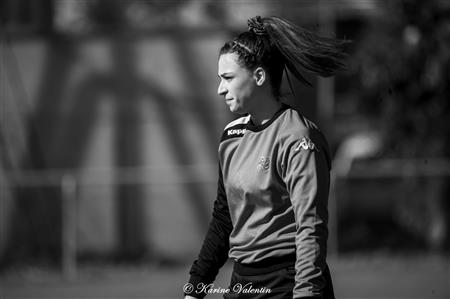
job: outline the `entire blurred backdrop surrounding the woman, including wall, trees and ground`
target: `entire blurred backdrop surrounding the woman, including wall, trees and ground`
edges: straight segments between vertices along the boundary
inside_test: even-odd
[[[0,298],[181,298],[255,15],[352,41],[285,89],[333,152],[338,297],[450,297],[449,1],[2,0]]]

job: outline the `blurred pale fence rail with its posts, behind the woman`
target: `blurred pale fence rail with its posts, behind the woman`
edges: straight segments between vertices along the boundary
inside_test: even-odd
[[[450,159],[384,159],[364,161],[355,166],[353,159],[333,162],[330,190],[330,253],[337,254],[336,184],[340,179],[380,179],[450,176]],[[59,186],[62,200],[62,273],[67,280],[77,276],[77,190],[81,186],[118,184],[189,184],[211,183],[217,180],[217,165],[185,165],[178,167],[130,167],[47,169],[4,172],[10,187]],[[1,200],[1,199],[0,199]]]

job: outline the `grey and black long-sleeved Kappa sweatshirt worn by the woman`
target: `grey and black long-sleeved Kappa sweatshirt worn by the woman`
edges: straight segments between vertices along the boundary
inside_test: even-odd
[[[322,133],[286,105],[263,125],[241,117],[223,132],[219,166],[212,220],[189,282],[213,282],[228,257],[252,263],[295,253],[294,298],[320,296],[331,168]]]

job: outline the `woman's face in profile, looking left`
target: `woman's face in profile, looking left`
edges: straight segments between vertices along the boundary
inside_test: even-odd
[[[250,113],[256,101],[254,93],[256,81],[253,72],[238,63],[236,53],[225,53],[219,57],[217,93],[225,98],[231,112]]]

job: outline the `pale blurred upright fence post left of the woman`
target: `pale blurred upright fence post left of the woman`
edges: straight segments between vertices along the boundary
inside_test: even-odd
[[[62,271],[65,279],[77,276],[77,182],[72,175],[61,178],[62,194]]]

